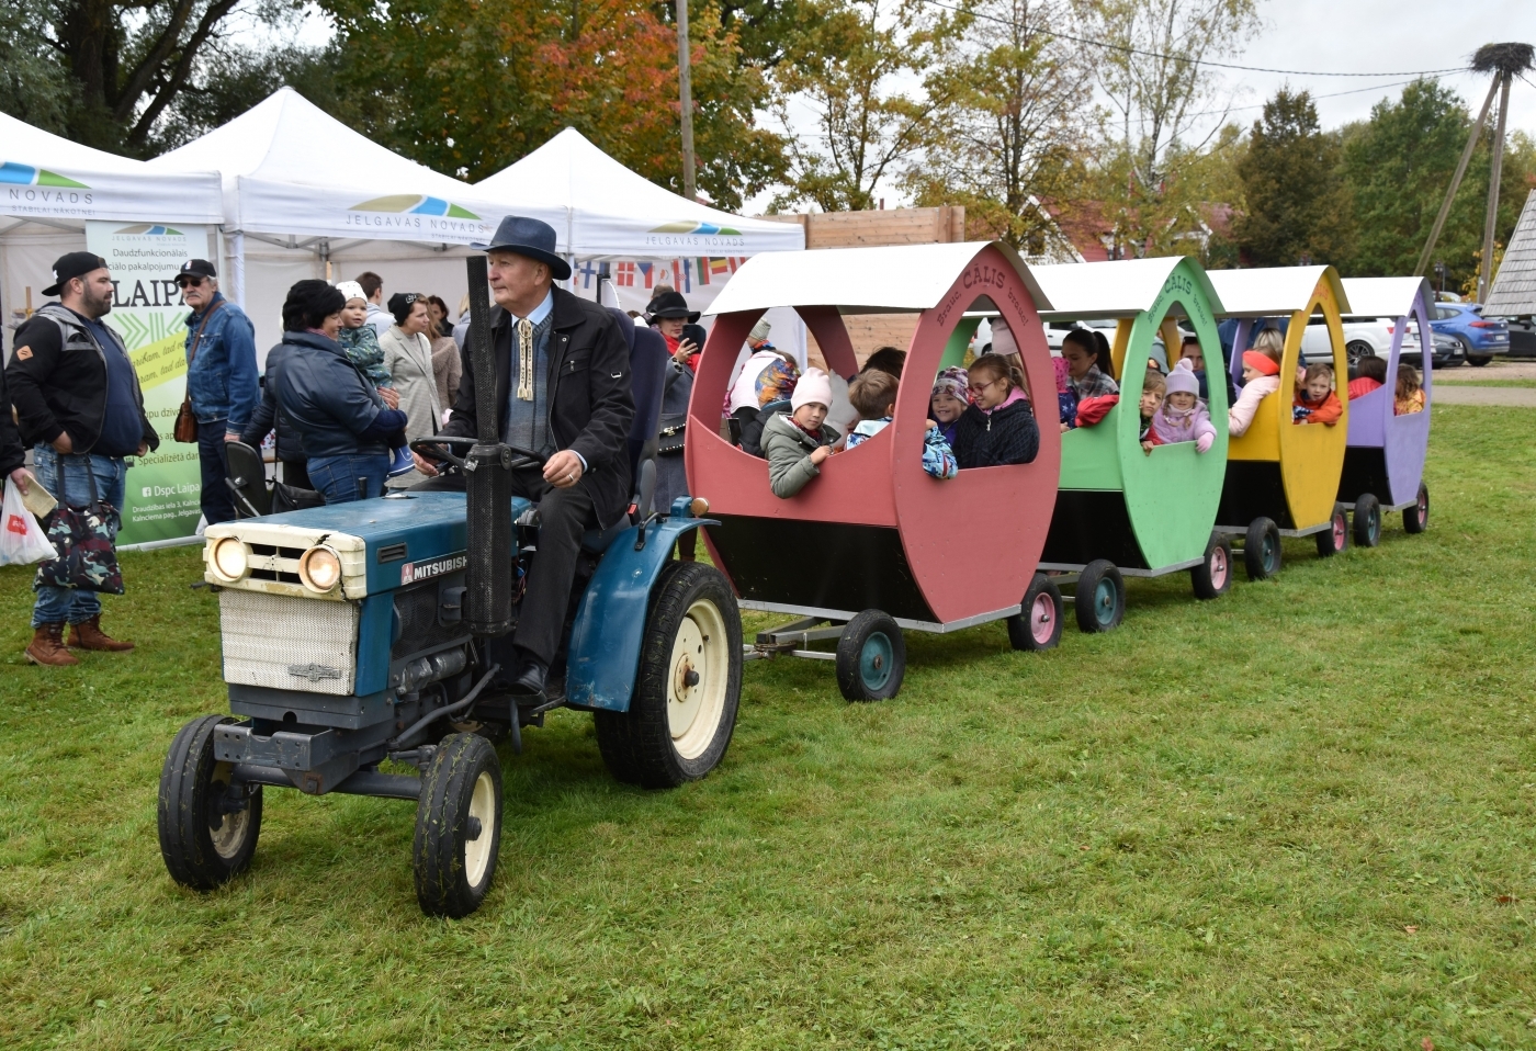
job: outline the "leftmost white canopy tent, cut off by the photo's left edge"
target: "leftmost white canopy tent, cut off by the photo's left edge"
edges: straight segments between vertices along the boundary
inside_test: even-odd
[[[41,306],[54,260],[86,247],[88,220],[215,224],[221,215],[212,167],[167,177],[0,114],[0,303],[8,330],[29,298],[34,309]]]

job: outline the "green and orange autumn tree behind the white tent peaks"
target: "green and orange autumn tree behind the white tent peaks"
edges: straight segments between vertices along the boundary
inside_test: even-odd
[[[352,98],[378,140],[478,181],[574,128],[642,175],[680,191],[677,48],[637,0],[484,3],[321,0],[349,55]],[[777,138],[754,123],[765,92],[719,8],[697,6],[693,40],[699,189],[737,207],[782,172]]]

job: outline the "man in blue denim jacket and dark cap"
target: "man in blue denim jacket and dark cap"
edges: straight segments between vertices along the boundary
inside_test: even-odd
[[[209,526],[235,518],[235,498],[224,484],[224,443],[240,441],[261,401],[257,381],[257,330],[250,318],[218,290],[207,260],[187,260],[177,274],[187,318],[187,395],[197,416],[197,452],[203,466],[203,518]]]

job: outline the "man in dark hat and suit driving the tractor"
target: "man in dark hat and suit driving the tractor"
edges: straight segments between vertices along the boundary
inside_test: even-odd
[[[571,270],[554,250],[548,223],[508,215],[485,252],[496,301],[490,318],[496,429],[507,444],[547,456],[542,469],[515,472],[511,479],[515,493],[539,506],[539,553],[511,638],[518,647],[511,690],[542,695],[565,627],[581,536],[619,521],[630,502],[630,347],[608,310],[553,286]],[[476,381],[484,376],[465,367],[442,435],[476,436]],[[438,473],[419,455],[416,467]],[[424,482],[447,486],[462,487],[462,478]]]

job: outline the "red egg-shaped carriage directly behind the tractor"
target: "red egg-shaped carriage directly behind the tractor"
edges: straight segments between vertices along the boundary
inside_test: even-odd
[[[1037,562],[1061,463],[1057,412],[1040,421],[1029,464],[940,481],[923,472],[922,452],[934,376],[978,312],[1006,318],[1034,404],[1055,404],[1038,301],[1028,267],[1000,243],[774,252],[736,274],[710,307],[717,318],[693,386],[685,456],[690,490],[710,493],[719,519],[705,535],[710,553],[742,607],[797,618],[759,635],[753,656],[836,659],[846,698],[877,699],[900,688],[903,628],[1011,619],[1009,635],[1023,647],[1020,610],[1044,581]],[[829,458],[790,499],[770,490],[765,461],[720,435],[743,340],[770,307],[794,307],[842,376],[859,369],[843,315],[919,315],[891,426]],[[836,655],[811,648],[831,639]]]

